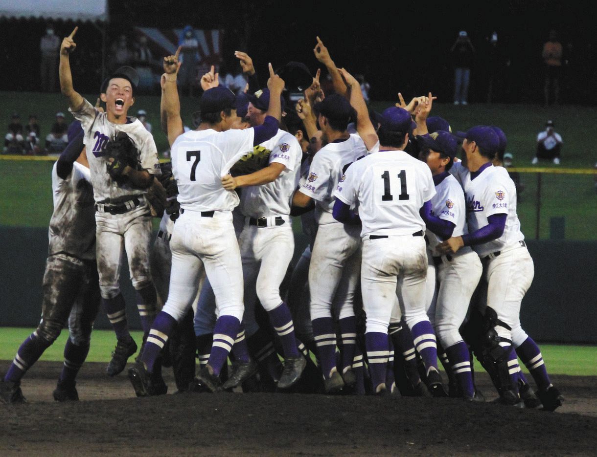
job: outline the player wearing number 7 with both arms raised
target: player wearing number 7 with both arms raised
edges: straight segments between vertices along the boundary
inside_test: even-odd
[[[180,48],[175,55],[165,58],[166,73],[162,78],[168,141],[181,209],[170,240],[172,270],[168,301],[153,323],[139,361],[128,372],[137,396],[163,393],[163,379],[155,362],[177,322],[195,300],[202,267],[216,295],[218,318],[210,358],[199,370],[195,382],[201,390],[221,390],[220,371],[238,337],[244,312],[241,256],[231,212],[238,204],[238,196],[224,189],[221,178],[246,151],[275,135],[281,116],[279,97],[284,81],[273,74],[270,64],[267,85],[272,97],[269,116],[263,125],[230,129],[237,121],[236,97],[229,89],[215,87],[201,97],[199,127],[183,134],[176,89],[179,52]],[[243,362],[248,362],[248,354]]]

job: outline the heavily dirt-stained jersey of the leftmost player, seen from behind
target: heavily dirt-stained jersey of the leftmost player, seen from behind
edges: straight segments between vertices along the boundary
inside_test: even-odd
[[[82,260],[96,258],[96,209],[90,170],[81,163],[65,180],[52,168],[54,212],[50,219],[48,254],[68,254]]]

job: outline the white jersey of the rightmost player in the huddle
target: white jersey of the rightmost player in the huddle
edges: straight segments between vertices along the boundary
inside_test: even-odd
[[[469,233],[487,226],[488,216],[507,214],[506,227],[499,238],[472,246],[479,257],[524,240],[521,223],[516,215],[516,187],[505,168],[490,165],[473,180],[470,179],[469,172],[464,175],[463,186]]]

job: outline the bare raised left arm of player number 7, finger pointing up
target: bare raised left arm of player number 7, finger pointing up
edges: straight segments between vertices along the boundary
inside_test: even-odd
[[[183,121],[180,117],[179,91],[176,87],[176,78],[180,69],[179,54],[181,47],[176,54],[164,57],[164,84],[162,85],[161,107],[164,109],[166,125],[168,129],[168,143],[174,144],[174,140],[184,133]],[[164,116],[162,114],[162,116]]]

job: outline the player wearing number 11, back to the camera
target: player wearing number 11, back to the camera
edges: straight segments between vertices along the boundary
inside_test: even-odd
[[[342,73],[349,85],[355,85],[354,78]],[[359,118],[365,118],[362,122],[367,125],[366,130],[359,129],[359,134],[377,138],[368,116]],[[388,326],[396,284],[400,282],[399,299],[425,364],[428,386],[432,394],[444,396],[435,335],[424,304],[427,257],[423,228],[426,221],[433,222],[429,203],[435,194],[433,180],[426,165],[401,150],[408,141],[410,113],[392,107],[383,112],[382,118],[380,141],[370,148],[373,153],[350,165],[337,184],[334,218],[353,220],[350,206],[358,205],[363,239],[361,292],[367,314],[365,346],[374,393],[388,391]]]

